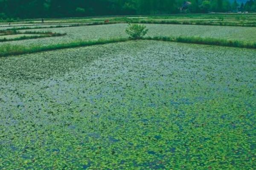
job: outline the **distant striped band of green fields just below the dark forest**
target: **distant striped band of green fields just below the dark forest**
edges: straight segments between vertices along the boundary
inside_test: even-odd
[[[109,20],[109,23],[105,23]],[[81,17],[65,19],[47,19],[44,24],[41,20],[25,20],[20,26],[28,27],[24,24],[37,24],[40,27],[47,27],[49,24],[58,24],[52,27],[65,27],[67,25],[99,25],[111,23],[162,23],[162,24],[183,24],[183,25],[212,25],[212,26],[256,26],[256,14],[178,14],[178,15],[158,15],[158,16],[127,16],[127,17]],[[16,23],[6,25],[15,26]],[[48,26],[50,27],[50,26]]]

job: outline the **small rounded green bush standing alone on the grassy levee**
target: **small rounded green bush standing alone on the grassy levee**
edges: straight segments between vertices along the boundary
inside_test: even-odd
[[[144,25],[129,24],[125,32],[131,39],[141,39],[145,34],[148,33],[148,29],[146,29],[146,26]]]

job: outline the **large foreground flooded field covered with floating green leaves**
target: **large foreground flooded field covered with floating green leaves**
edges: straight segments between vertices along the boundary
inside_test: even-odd
[[[0,169],[253,170],[255,56],[138,40],[0,58]]]

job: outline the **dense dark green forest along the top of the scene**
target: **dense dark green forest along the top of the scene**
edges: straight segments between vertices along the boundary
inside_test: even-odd
[[[0,0],[0,18],[256,11],[256,0]]]

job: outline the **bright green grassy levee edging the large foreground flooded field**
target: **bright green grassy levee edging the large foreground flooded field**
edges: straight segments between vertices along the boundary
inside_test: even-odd
[[[52,44],[46,46],[24,46],[24,45],[11,45],[3,44],[0,45],[0,57],[6,57],[10,55],[30,54],[42,51],[52,51],[64,48],[75,48],[91,45],[101,45],[114,42],[125,42],[133,40],[130,38],[112,38],[112,39],[99,39],[91,41],[73,41],[60,44]],[[157,40],[157,41],[169,41],[169,42],[183,42],[193,44],[205,44],[205,45],[219,45],[228,47],[239,47],[239,48],[254,48],[256,49],[256,42],[243,42],[238,40],[223,40],[215,38],[202,38],[202,37],[145,37],[140,40]]]

